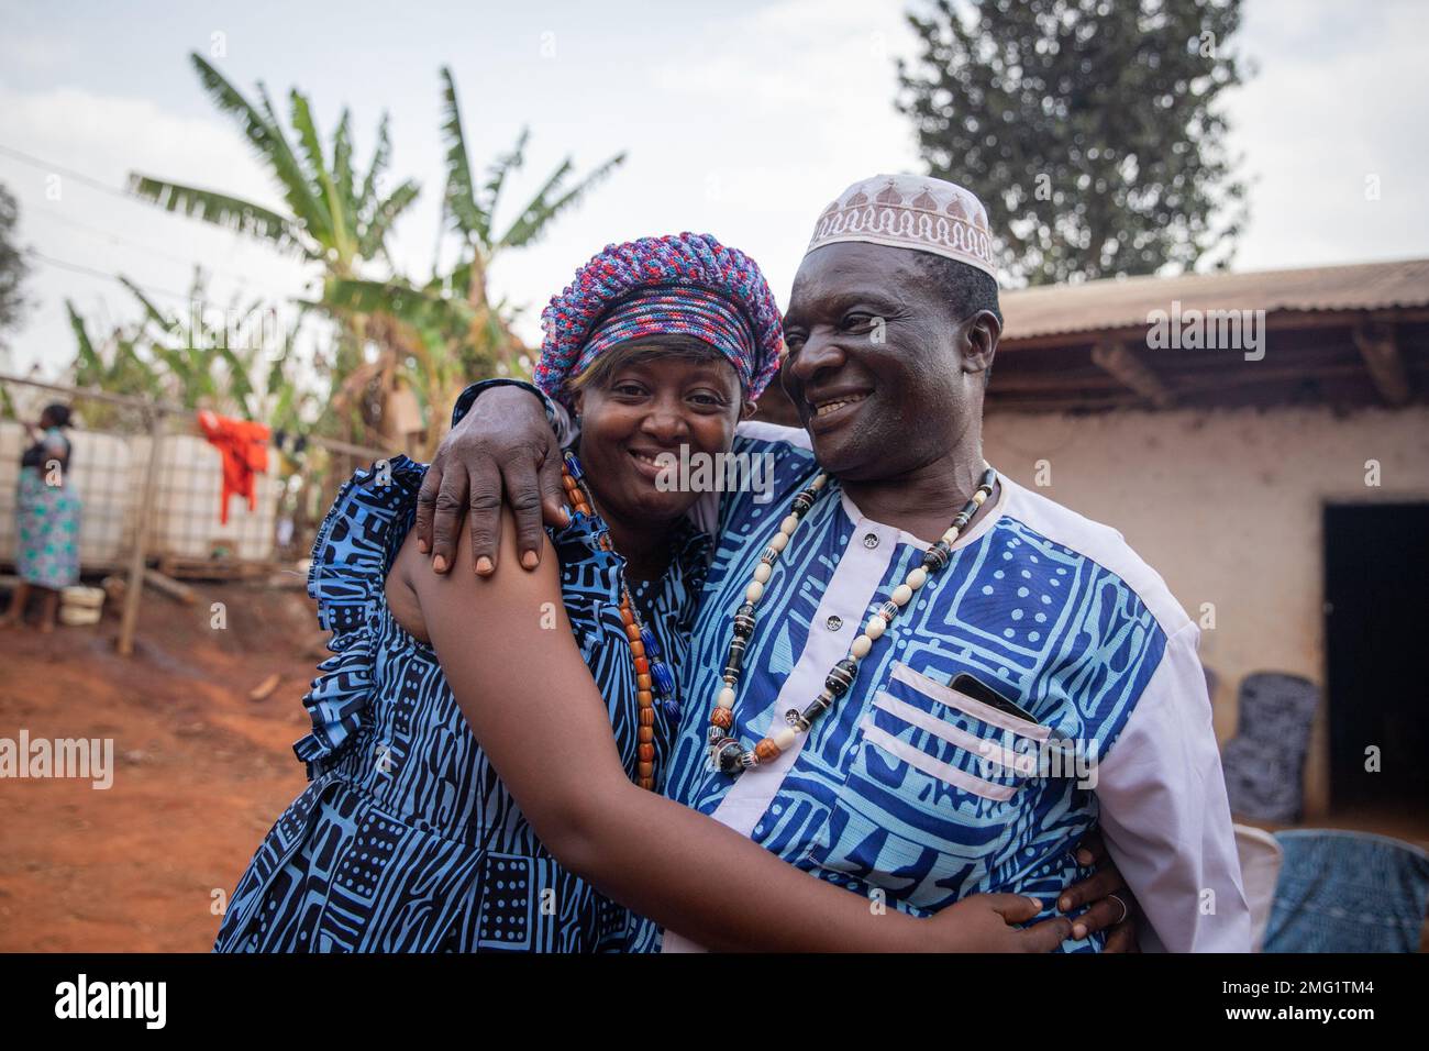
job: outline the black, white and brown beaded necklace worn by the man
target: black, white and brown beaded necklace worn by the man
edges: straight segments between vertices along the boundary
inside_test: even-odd
[[[735,612],[729,656],[725,659],[725,686],[720,689],[714,709],[710,712],[709,746],[710,765],[713,768],[722,774],[735,775],[762,762],[772,762],[795,744],[799,734],[807,734],[815,719],[829,711],[839,698],[849,692],[849,688],[859,678],[859,661],[869,655],[873,643],[887,631],[897,612],[912,601],[913,592],[919,591],[932,576],[947,568],[953,555],[953,542],[967,528],[973,515],[977,513],[977,508],[992,495],[993,486],[997,482],[997,472],[986,463],[983,466],[986,469],[979,479],[977,488],[973,490],[972,499],[957,512],[942,539],[923,553],[923,565],[910,569],[907,576],[903,578],[903,583],[893,589],[889,601],[873,611],[867,625],[863,628],[863,633],[849,646],[849,655],[829,669],[819,696],[802,712],[797,708],[790,708],[785,712],[786,725],[779,726],[770,736],[746,749],[739,739],[730,736],[730,728],[735,725],[735,686],[739,684],[739,675],[745,663],[745,649],[755,633],[755,609],[765,596],[765,585],[773,573],[780,552],[789,545],[789,538],[793,536],[795,529],[799,528],[799,522],[809,513],[829,476],[820,472],[795,496],[789,515],[779,523],[779,532],[770,539],[769,546],[765,548],[765,553],[759,556],[759,565],[755,566],[755,579],[745,591],[745,602]]]

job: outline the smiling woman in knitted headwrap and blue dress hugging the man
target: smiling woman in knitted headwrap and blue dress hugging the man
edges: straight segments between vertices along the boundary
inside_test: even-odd
[[[543,319],[537,382],[580,420],[557,558],[522,571],[507,523],[494,573],[437,576],[412,535],[426,468],[347,483],[309,578],[336,651],[296,745],[312,784],[217,948],[644,951],[642,915],[726,948],[1057,945],[1066,919],[1009,927],[1036,911],[1015,895],[885,915],[654,791],[709,553],[654,460],[729,450],[779,312],[752,260],[682,235],[607,247]]]

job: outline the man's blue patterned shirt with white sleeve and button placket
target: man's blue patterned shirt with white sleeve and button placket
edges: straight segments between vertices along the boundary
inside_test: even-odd
[[[713,771],[706,729],[735,611],[789,502],[817,473],[802,430],[746,423],[735,452],[770,458],[773,499],[743,492],[720,503],[720,543],[679,669],[673,799],[915,915],[976,892],[1055,902],[1086,874],[1072,851],[1099,822],[1145,911],[1143,948],[1249,951],[1196,626],[1119,533],[1006,479],[807,735],[739,776]],[[819,695],[927,546],[865,518],[829,480],[757,608],[735,704],[746,748]],[[990,704],[987,691],[1016,708]],[[697,948],[673,932],[664,947]]]

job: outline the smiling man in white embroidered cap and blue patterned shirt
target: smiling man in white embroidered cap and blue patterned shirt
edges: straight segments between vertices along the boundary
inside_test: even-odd
[[[667,794],[915,915],[979,891],[1050,915],[1099,825],[1143,944],[1248,951],[1195,623],[1117,532],[982,458],[990,246],[936,179],[820,213],[785,316],[805,429],[736,432],[775,460],[775,510],[720,503]]]

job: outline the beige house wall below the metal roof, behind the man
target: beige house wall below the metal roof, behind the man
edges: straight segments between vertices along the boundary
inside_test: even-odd
[[[1255,671],[1325,684],[1322,508],[1429,502],[1429,408],[1109,412],[989,410],[985,453],[999,470],[1122,532],[1202,629],[1222,742],[1236,686]],[[1366,460],[1380,485],[1366,485]],[[1037,486],[1039,460],[1050,485]],[[1365,538],[1373,543],[1373,538]],[[1425,538],[1429,543],[1429,538]],[[1306,818],[1329,805],[1320,715],[1306,764]]]

